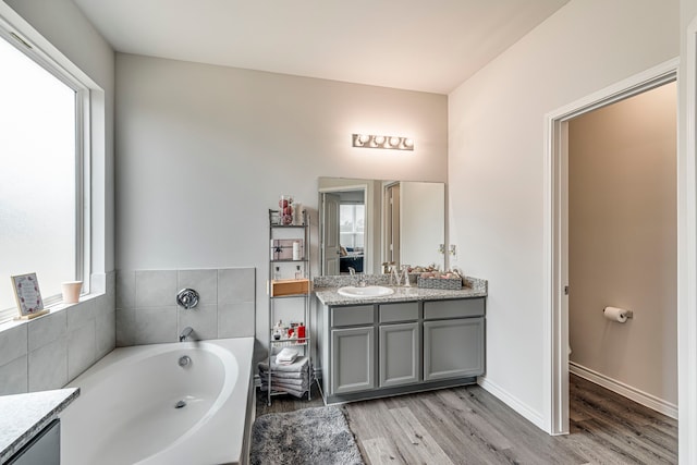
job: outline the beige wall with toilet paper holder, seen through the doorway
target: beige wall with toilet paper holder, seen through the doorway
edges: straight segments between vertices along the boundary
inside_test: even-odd
[[[677,404],[676,84],[568,123],[571,360]],[[634,311],[621,325],[606,306]]]

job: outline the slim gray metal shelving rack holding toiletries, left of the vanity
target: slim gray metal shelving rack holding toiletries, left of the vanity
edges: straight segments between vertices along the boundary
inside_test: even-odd
[[[274,258],[277,247],[273,245],[273,241],[279,238],[278,232],[286,231],[284,233],[288,238],[289,235],[293,235],[292,240],[303,240],[303,252],[299,259],[294,260],[292,258]],[[290,231],[290,232],[289,232]],[[293,231],[296,233],[293,234]],[[309,215],[307,211],[303,211],[302,224],[281,224],[280,212],[278,210],[269,209],[269,355],[268,355],[268,391],[267,391],[267,404],[271,405],[271,397],[274,395],[285,394],[283,391],[274,391],[272,380],[273,370],[271,369],[271,357],[274,352],[279,352],[284,346],[292,346],[303,348],[304,355],[308,358],[307,364],[307,400],[311,400],[311,387],[314,382],[314,369],[313,358],[310,351],[310,292],[311,292],[311,273],[310,273],[310,234],[309,234]],[[277,266],[283,265],[299,265],[302,268],[303,277],[301,279],[274,279],[273,272]],[[278,299],[297,298],[303,299],[303,322],[305,325],[305,338],[303,342],[298,342],[297,339],[282,338],[280,340],[273,339],[273,326],[276,323],[276,310],[274,303]]]

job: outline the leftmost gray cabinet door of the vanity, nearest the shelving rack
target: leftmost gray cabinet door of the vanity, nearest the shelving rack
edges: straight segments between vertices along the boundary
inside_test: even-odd
[[[375,328],[331,331],[331,394],[375,388]]]

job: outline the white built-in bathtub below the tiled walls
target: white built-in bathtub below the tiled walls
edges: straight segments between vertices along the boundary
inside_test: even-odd
[[[114,350],[70,384],[81,394],[60,415],[62,463],[245,464],[253,347],[239,338]]]

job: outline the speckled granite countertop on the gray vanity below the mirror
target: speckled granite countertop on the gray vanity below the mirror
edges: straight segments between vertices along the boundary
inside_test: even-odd
[[[382,277],[372,279],[369,278],[371,277],[366,277],[367,285],[386,285],[381,282]],[[345,297],[339,294],[339,287],[344,285],[353,285],[354,281],[355,279],[352,280],[347,277],[323,277],[321,279],[315,278],[314,292],[319,302],[321,302],[323,305],[332,306],[486,297],[488,286],[486,280],[466,277],[464,279],[465,285],[461,290],[425,289],[417,287],[416,284],[412,284],[409,287],[388,285],[388,287],[394,289],[394,294],[378,297]]]

